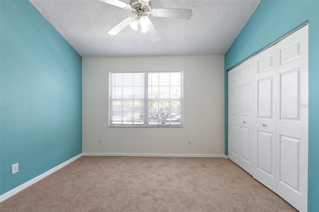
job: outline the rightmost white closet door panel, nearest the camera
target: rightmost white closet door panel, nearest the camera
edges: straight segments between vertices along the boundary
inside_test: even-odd
[[[307,211],[308,25],[277,45],[277,194]]]

